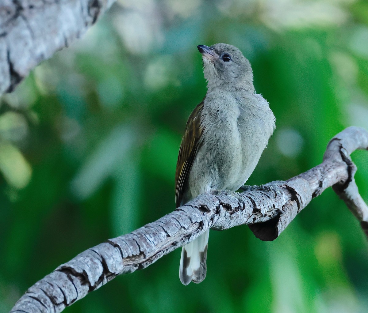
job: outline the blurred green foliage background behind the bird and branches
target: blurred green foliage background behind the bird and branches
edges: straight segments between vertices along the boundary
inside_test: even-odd
[[[197,45],[250,60],[277,128],[248,184],[322,162],[368,129],[365,0],[120,0],[0,102],[0,312],[79,252],[174,210],[185,123],[206,93]],[[353,154],[368,201],[368,155]],[[65,312],[367,312],[368,244],[331,189],[273,242],[210,234],[203,283],[180,249]]]

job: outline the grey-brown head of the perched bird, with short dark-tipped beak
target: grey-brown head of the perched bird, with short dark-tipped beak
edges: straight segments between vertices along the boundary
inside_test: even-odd
[[[198,46],[203,56],[204,75],[208,89],[248,89],[254,91],[253,72],[241,51],[225,43]]]

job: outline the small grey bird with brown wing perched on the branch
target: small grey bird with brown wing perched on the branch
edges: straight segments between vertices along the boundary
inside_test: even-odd
[[[189,116],[175,177],[176,206],[202,193],[236,191],[253,172],[275,129],[268,102],[255,92],[249,61],[229,44],[200,45],[207,94]],[[209,230],[181,251],[181,283],[206,277]]]

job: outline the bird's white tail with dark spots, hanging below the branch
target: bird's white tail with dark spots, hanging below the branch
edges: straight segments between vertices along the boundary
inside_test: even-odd
[[[183,285],[205,279],[208,235],[209,229],[181,249],[179,277]]]

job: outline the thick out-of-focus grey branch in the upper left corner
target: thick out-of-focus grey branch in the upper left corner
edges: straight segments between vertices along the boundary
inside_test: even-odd
[[[68,47],[115,0],[1,0],[0,94]]]

